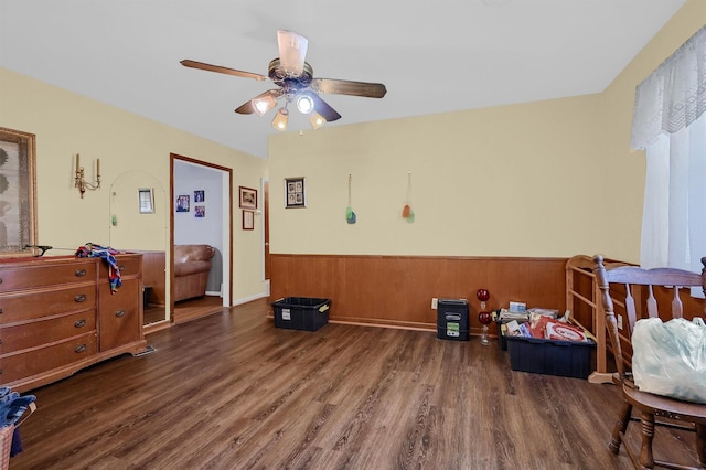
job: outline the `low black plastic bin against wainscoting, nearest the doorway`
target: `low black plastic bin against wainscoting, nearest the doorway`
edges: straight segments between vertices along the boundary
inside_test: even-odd
[[[272,303],[275,327],[317,331],[329,322],[331,299],[285,297]]]

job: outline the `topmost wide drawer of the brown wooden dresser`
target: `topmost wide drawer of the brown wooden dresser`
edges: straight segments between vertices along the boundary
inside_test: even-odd
[[[72,260],[66,264],[36,261],[32,266],[0,267],[0,293],[68,282],[96,280],[96,263]]]

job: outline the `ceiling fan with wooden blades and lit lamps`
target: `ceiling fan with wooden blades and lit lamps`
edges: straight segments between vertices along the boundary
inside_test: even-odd
[[[277,130],[287,130],[289,117],[288,106],[297,105],[300,113],[309,115],[309,120],[314,129],[341,118],[341,115],[329,106],[319,93],[335,95],[364,96],[368,98],[382,98],[387,93],[382,83],[352,82],[335,78],[317,78],[313,68],[304,60],[309,40],[292,31],[278,30],[277,43],[279,57],[269,63],[268,74],[260,75],[252,72],[237,71],[220,65],[205,64],[203,62],[184,60],[181,64],[185,67],[201,68],[210,72],[235,75],[257,81],[270,79],[277,88],[268,89],[253,99],[245,102],[235,113],[249,115],[265,115],[278,105],[279,98],[284,98],[284,105],[277,110],[272,127]]]

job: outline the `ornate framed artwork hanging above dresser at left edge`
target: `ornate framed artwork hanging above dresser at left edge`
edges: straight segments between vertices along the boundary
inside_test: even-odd
[[[35,138],[0,127],[0,256],[40,256]],[[43,252],[42,252],[43,253]]]

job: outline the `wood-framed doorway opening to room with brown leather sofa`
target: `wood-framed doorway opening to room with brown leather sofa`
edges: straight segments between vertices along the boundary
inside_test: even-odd
[[[233,170],[172,153],[170,171],[170,311],[181,323],[231,306]],[[214,248],[205,296],[174,301],[174,246],[190,244]]]

